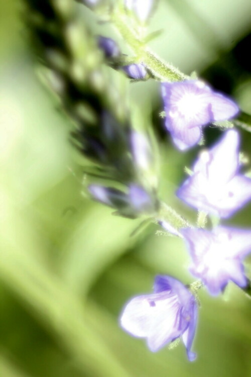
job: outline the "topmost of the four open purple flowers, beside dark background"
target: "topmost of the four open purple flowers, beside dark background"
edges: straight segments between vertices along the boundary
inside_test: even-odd
[[[201,139],[201,127],[234,117],[238,106],[200,80],[162,83],[165,126],[174,144],[188,149]]]

